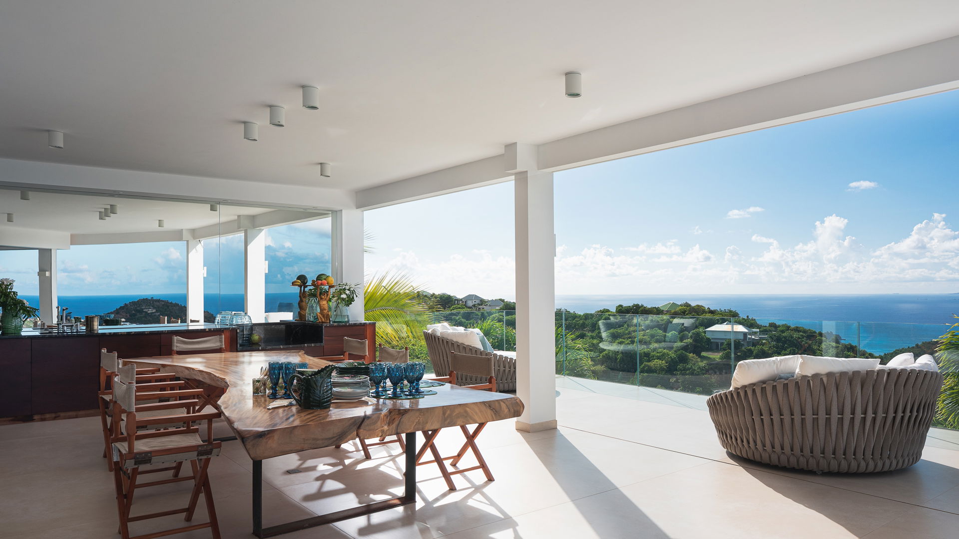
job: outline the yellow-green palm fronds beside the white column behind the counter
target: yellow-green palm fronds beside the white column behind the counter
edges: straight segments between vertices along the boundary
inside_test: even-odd
[[[377,342],[401,347],[426,326],[429,308],[419,299],[419,288],[403,272],[374,273],[366,279],[364,317],[377,322]]]

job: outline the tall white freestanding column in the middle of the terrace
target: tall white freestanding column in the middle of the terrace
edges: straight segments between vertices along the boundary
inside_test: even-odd
[[[505,155],[516,190],[516,394],[526,406],[516,428],[535,433],[556,428],[552,173],[536,170],[533,146]]]

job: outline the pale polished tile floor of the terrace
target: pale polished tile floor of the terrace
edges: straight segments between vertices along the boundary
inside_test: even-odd
[[[470,472],[449,491],[435,467],[423,466],[415,507],[285,537],[959,537],[955,433],[934,429],[923,460],[906,470],[816,475],[727,455],[702,397],[570,378],[558,378],[557,387],[558,430],[521,434],[501,421],[479,436],[495,481]],[[460,437],[444,433],[441,445],[458,447]],[[117,537],[100,443],[93,417],[0,426],[0,537]],[[400,494],[399,449],[374,448],[372,460],[358,450],[267,460],[266,524]],[[251,537],[250,468],[236,441],[224,443],[211,464],[223,537]],[[188,489],[178,483],[137,491],[133,512],[182,506]],[[181,522],[166,519],[134,523],[131,531]],[[200,530],[175,537],[209,536]]]

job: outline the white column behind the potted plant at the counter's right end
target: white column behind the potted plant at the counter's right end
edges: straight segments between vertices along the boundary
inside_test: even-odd
[[[363,210],[339,210],[333,214],[333,276],[338,283],[359,285],[350,305],[350,320],[363,320]]]

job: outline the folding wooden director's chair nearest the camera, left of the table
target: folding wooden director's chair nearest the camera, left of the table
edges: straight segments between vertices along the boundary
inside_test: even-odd
[[[217,522],[217,511],[213,504],[213,493],[210,489],[208,469],[210,458],[220,455],[221,443],[213,441],[213,420],[220,417],[219,412],[199,413],[199,400],[203,394],[200,389],[185,389],[173,391],[144,391],[134,380],[133,365],[120,367],[113,382],[113,416],[123,417],[124,421],[114,421],[110,433],[113,457],[113,482],[116,488],[117,515],[120,519],[120,534],[122,539],[152,539],[164,535],[183,533],[194,529],[209,527],[214,539],[220,539],[220,527]],[[138,391],[138,389],[140,389]],[[182,399],[170,400],[154,404],[137,404],[155,399]],[[147,411],[162,411],[164,415],[150,418],[141,416]],[[206,421],[206,439],[199,437],[199,427],[196,423]],[[141,426],[148,428],[163,424],[179,424],[181,427],[164,431],[141,432]],[[193,474],[183,478],[154,480],[138,483],[141,475],[175,469],[183,462],[190,462]],[[174,464],[172,467],[160,467],[141,470],[141,466],[148,464]],[[130,516],[134,492],[139,488],[167,484],[177,481],[193,480],[194,486],[190,494],[190,501],[186,507],[159,511],[145,515]],[[130,537],[129,523],[152,518],[165,517],[179,513],[186,513],[186,522],[193,520],[197,510],[199,495],[202,494],[206,503],[209,522],[185,527],[177,527],[164,531],[157,531]]]

